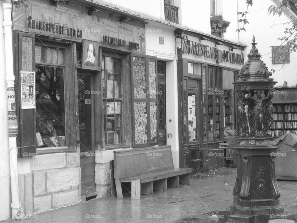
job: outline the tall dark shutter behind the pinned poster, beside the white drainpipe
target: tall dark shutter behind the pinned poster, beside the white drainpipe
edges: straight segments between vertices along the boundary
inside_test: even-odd
[[[22,109],[21,107],[20,71],[35,70],[35,35],[14,32],[14,36],[15,95],[19,126],[17,146],[19,158],[25,158],[36,155],[36,109]]]

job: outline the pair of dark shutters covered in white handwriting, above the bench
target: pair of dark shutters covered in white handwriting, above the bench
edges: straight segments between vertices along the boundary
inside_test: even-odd
[[[131,55],[133,146],[158,144],[157,57]]]

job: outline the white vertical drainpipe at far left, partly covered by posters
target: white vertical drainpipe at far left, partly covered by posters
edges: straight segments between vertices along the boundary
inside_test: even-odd
[[[13,55],[12,55],[12,21],[11,21],[11,2],[5,0],[3,6],[3,26],[5,38],[5,63],[6,63],[6,85],[7,87],[15,87],[15,76],[13,74]],[[11,175],[11,209],[12,219],[23,218],[24,213],[20,210],[19,202],[19,169],[17,155],[16,137],[9,137],[10,149],[10,175]]]

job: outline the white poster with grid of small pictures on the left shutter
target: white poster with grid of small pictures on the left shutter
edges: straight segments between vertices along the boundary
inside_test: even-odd
[[[35,108],[35,72],[21,71],[22,109]]]

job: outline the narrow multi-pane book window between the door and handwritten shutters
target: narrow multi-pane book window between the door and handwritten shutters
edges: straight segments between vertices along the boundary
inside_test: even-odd
[[[121,60],[103,56],[101,63],[104,100],[105,145],[123,143]]]

